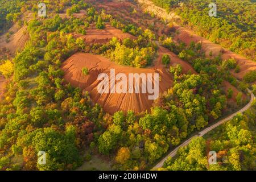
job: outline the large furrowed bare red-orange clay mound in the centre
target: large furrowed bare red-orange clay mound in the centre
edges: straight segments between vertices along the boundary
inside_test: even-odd
[[[82,73],[82,68],[84,67],[89,69],[89,74],[86,76]],[[150,111],[154,100],[148,100],[148,95],[150,94],[147,93],[100,94],[97,90],[97,85],[101,82],[97,80],[100,73],[106,73],[110,77],[110,69],[115,69],[115,75],[125,73],[127,78],[129,73],[159,73],[159,77],[161,77],[159,82],[159,94],[170,88],[173,83],[170,73],[167,73],[164,67],[144,69],[125,67],[115,64],[100,55],[92,55],[89,53],[76,53],[64,62],[61,69],[65,72],[64,78],[66,81],[70,82],[73,86],[78,86],[88,91],[92,100],[100,104],[104,110],[110,114],[119,110],[125,112],[133,110],[136,113],[146,110]]]

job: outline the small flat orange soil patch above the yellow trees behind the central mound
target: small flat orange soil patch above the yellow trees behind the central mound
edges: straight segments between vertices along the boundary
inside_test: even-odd
[[[88,44],[93,43],[108,43],[113,37],[118,38],[118,40],[123,40],[125,38],[135,39],[135,36],[123,33],[121,30],[111,27],[108,24],[104,30],[98,30],[94,26],[86,30],[86,35],[74,34],[75,38],[82,38]]]

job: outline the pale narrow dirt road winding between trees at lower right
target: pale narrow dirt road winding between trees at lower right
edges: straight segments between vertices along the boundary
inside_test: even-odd
[[[251,92],[251,90],[247,89],[247,91],[251,94],[251,100],[250,102],[244,106],[242,109],[238,110],[236,113],[233,113],[231,115],[229,115],[228,117],[226,117],[225,119],[221,119],[221,121],[215,123],[214,125],[212,126],[209,126],[207,127],[206,129],[204,129],[203,131],[200,131],[198,134],[194,135],[193,137],[185,140],[185,142],[183,142],[182,144],[180,144],[179,146],[177,146],[174,150],[172,150],[165,158],[163,158],[158,164],[156,164],[156,166],[152,169],[157,169],[157,168],[160,168],[160,167],[163,167],[163,164],[164,164],[164,161],[169,158],[169,157],[174,157],[177,153],[177,150],[180,148],[180,147],[184,147],[184,146],[187,146],[187,144],[189,142],[191,142],[192,138],[194,137],[203,137],[206,133],[208,133],[209,131],[215,129],[217,126],[220,126],[222,125],[223,123],[225,123],[226,121],[229,121],[230,119],[232,119],[235,115],[237,115],[238,113],[243,113],[244,111],[246,111],[247,109],[250,108],[251,106],[251,103],[255,100],[255,96],[254,94]]]

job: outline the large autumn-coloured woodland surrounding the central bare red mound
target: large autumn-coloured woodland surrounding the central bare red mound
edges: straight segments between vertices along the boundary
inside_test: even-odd
[[[16,7],[19,7],[19,2],[13,1]],[[27,22],[30,40],[26,47],[13,60],[3,60],[0,67],[0,70],[5,70],[5,77],[11,80],[5,100],[0,104],[1,170],[77,169],[98,154],[111,160],[113,169],[148,169],[170,147],[245,105],[246,100],[241,94],[236,101],[231,100],[233,91],[225,93],[222,84],[224,80],[229,81],[238,86],[241,93],[247,86],[246,81],[238,82],[226,73],[226,70],[236,67],[233,60],[205,59],[200,44],[191,43],[186,47],[166,38],[160,44],[191,63],[199,74],[183,74],[181,65],[170,67],[172,60],[167,58],[163,64],[174,78],[174,86],[155,101],[151,111],[105,113],[99,105],[92,104],[90,93],[65,82],[61,63],[76,52],[88,52],[104,55],[118,64],[143,68],[150,66],[155,59],[158,50],[154,43],[156,36],[148,29],[123,24],[121,18],[115,19],[104,11],[97,11],[84,1],[48,3],[51,18],[35,17]],[[20,5],[20,9],[36,12],[30,1]],[[64,9],[67,9],[68,18],[55,15],[63,13]],[[83,18],[72,16],[80,10],[86,11]],[[7,18],[8,14],[20,11],[5,12]],[[107,44],[88,45],[69,34],[86,34],[87,28],[102,29],[108,23],[137,36],[137,39],[121,42],[113,38]],[[86,69],[84,72],[89,74]],[[250,80],[251,76],[248,77]],[[255,124],[255,119],[250,122]],[[246,129],[247,125],[249,127],[249,123],[244,123],[241,129]],[[38,151],[46,151],[46,165],[37,163]],[[251,153],[248,156],[251,158]],[[172,166],[172,163],[175,162],[171,160],[166,165]]]

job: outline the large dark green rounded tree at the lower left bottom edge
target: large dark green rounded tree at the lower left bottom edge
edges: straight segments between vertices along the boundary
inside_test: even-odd
[[[48,154],[46,165],[38,164],[40,170],[65,169],[69,164],[74,169],[80,164],[79,151],[75,144],[75,127],[67,127],[65,134],[52,128],[44,128],[32,140],[36,151]]]

